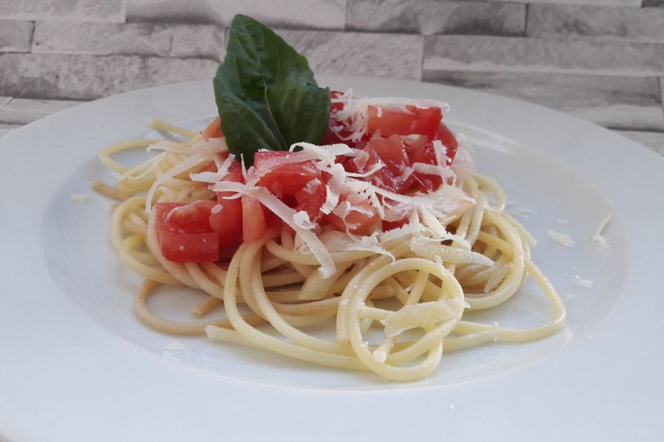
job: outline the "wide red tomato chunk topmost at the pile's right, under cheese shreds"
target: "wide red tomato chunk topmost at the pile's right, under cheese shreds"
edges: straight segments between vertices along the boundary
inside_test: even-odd
[[[369,106],[368,114],[367,132],[374,135],[380,131],[381,137],[413,134],[433,136],[443,117],[441,108],[417,106],[406,106],[405,109]]]

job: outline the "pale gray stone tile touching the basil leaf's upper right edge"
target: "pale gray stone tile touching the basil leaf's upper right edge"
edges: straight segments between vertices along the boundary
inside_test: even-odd
[[[419,35],[277,30],[326,75],[420,79],[423,39]]]

